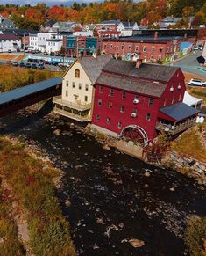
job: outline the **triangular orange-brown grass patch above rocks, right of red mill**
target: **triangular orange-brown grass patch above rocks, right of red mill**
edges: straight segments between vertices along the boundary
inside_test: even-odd
[[[206,162],[206,149],[203,147],[200,136],[194,128],[182,134],[179,139],[172,143],[171,147],[181,156],[193,157],[199,161]]]

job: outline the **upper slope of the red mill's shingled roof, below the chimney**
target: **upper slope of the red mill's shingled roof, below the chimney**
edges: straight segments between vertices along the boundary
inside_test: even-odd
[[[177,67],[158,64],[142,63],[139,68],[136,68],[135,65],[136,62],[111,59],[110,62],[103,67],[103,70],[124,76],[141,77],[143,79],[150,79],[153,81],[168,82],[179,69]]]

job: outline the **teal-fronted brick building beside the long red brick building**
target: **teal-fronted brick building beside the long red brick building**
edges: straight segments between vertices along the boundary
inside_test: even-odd
[[[67,36],[63,46],[68,56],[87,56],[100,51],[101,40],[97,37]]]

